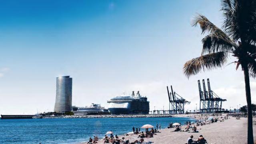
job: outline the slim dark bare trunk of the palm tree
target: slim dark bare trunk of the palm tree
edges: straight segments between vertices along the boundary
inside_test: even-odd
[[[253,144],[253,132],[252,132],[252,102],[251,102],[251,90],[250,90],[250,77],[248,72],[248,65],[243,66],[244,68],[244,82],[245,92],[247,101],[247,115],[248,115],[248,130],[247,130],[247,144]]]

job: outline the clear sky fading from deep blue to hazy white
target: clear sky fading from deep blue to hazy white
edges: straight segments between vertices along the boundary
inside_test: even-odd
[[[107,107],[110,98],[139,90],[150,110],[168,110],[172,85],[191,102],[185,110],[194,110],[197,80],[207,78],[227,99],[223,108],[246,105],[234,64],[184,76],[184,63],[202,50],[204,36],[190,25],[196,14],[222,26],[220,0],[0,0],[0,114],[53,111],[56,77],[66,75],[76,106]]]

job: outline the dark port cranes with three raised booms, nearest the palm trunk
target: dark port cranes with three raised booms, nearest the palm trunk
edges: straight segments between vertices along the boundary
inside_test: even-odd
[[[210,80],[207,79],[208,91],[206,90],[204,79],[202,80],[203,90],[201,89],[200,80],[198,80],[198,89],[200,96],[200,113],[214,113],[222,111],[222,102],[226,99],[220,98],[215,92],[211,90]]]

